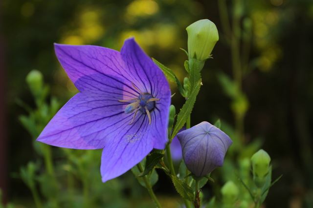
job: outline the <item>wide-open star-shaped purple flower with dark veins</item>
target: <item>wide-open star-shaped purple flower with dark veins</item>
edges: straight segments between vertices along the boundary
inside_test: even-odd
[[[165,148],[170,88],[134,39],[126,40],[121,52],[63,44],[55,44],[55,52],[80,92],[37,141],[74,149],[103,148],[103,182],[125,173],[153,148]]]

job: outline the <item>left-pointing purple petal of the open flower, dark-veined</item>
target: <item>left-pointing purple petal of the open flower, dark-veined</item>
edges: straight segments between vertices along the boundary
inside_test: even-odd
[[[112,132],[127,128],[132,120],[123,105],[106,96],[78,93],[45,126],[37,141],[75,149],[103,148]]]

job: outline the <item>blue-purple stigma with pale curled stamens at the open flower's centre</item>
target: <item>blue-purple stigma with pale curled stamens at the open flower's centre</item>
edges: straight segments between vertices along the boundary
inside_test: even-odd
[[[127,114],[134,112],[134,117],[133,117],[130,124],[132,124],[134,122],[134,118],[135,118],[138,110],[140,110],[141,113],[143,113],[143,114],[147,114],[147,116],[149,118],[149,124],[151,124],[150,112],[155,108],[156,101],[158,101],[158,100],[159,100],[158,98],[154,98],[151,94],[142,93],[140,91],[138,98],[133,98],[130,100],[119,100],[119,102],[131,103],[131,104],[128,104],[124,110],[124,112]]]

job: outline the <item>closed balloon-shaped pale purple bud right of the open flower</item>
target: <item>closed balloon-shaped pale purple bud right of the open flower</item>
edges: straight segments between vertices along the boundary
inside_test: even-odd
[[[182,156],[188,169],[197,177],[223,166],[231,139],[219,128],[201,122],[177,134],[182,146]]]

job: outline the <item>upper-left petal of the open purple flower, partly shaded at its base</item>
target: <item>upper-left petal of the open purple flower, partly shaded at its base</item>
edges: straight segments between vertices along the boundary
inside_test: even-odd
[[[69,79],[80,91],[89,91],[88,86],[101,83],[108,89],[116,89],[116,85],[127,94],[139,92],[133,87],[136,84],[132,71],[125,70],[124,62],[118,51],[93,45],[65,45],[55,43],[55,53],[59,62],[67,72]],[[105,77],[108,83],[102,82],[99,76]],[[84,78],[82,80],[82,78]],[[78,82],[80,80],[80,82]],[[88,81],[86,83],[83,81]],[[129,99],[125,97],[125,99]]]

